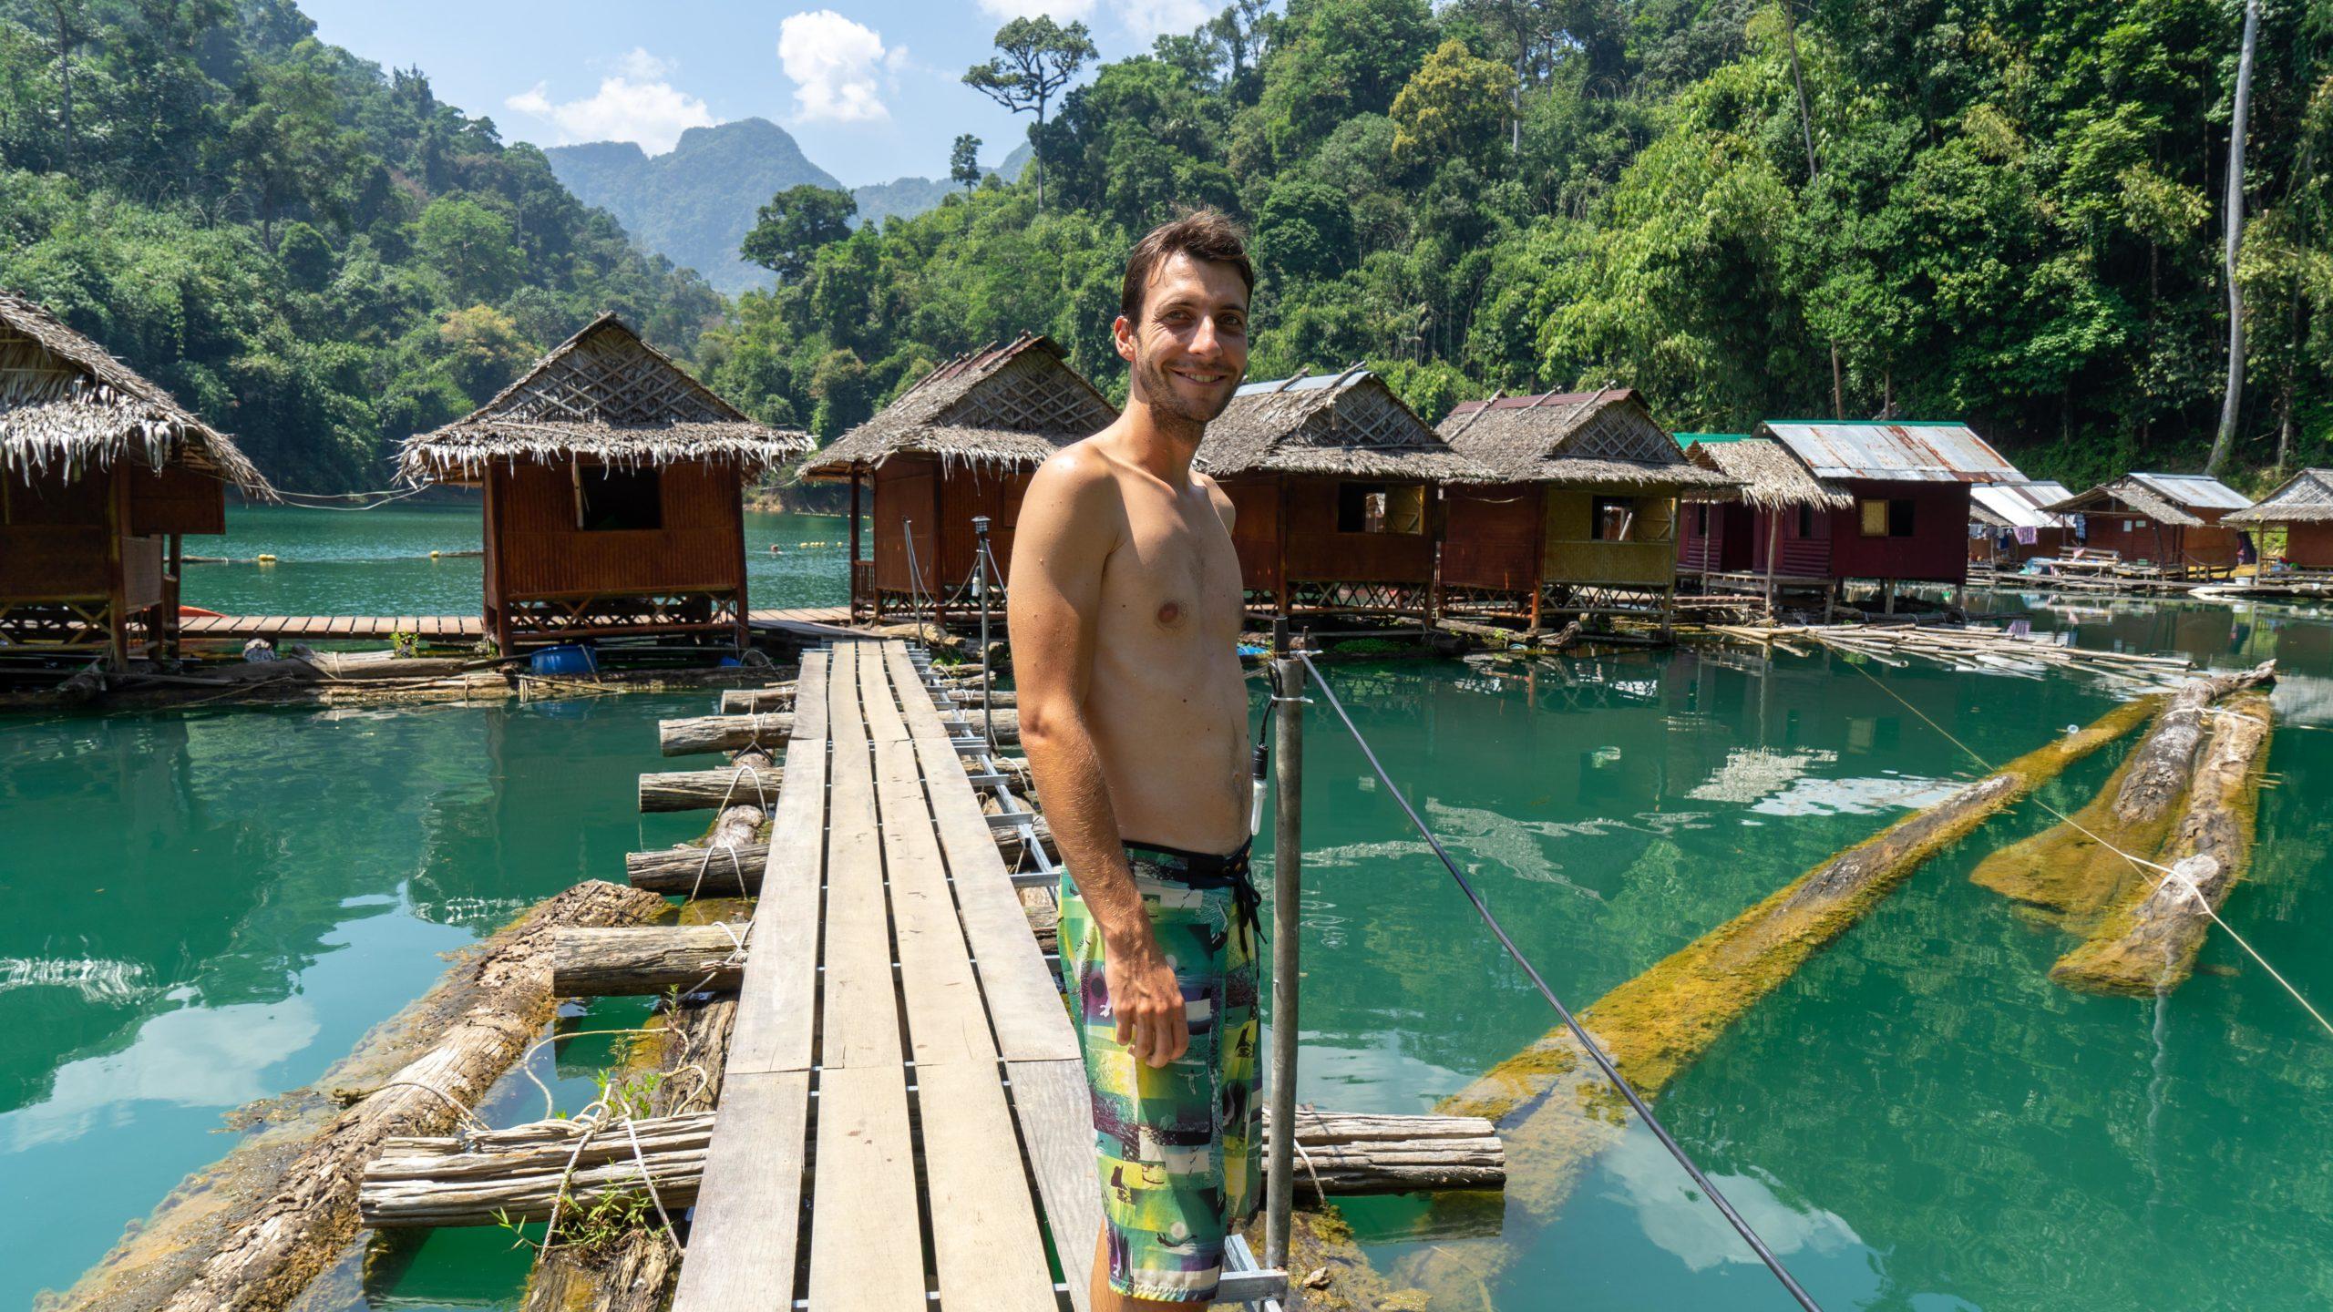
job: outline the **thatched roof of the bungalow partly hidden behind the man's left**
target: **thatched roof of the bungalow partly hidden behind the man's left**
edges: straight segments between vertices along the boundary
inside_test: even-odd
[[[803,462],[803,479],[849,479],[894,455],[938,455],[943,465],[1043,465],[1092,437],[1118,409],[1069,367],[1050,336],[1020,334],[940,364],[868,423]]]

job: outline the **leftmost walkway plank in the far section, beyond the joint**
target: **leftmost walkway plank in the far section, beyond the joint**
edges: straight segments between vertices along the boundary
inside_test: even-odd
[[[751,948],[728,1072],[807,1072],[819,988],[819,885],[826,866],[826,654],[805,651],[770,817],[770,857],[754,903]]]

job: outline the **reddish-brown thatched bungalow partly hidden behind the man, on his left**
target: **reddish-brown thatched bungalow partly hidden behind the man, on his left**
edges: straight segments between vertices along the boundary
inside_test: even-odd
[[[1050,336],[1024,332],[922,376],[798,474],[852,483],[852,607],[882,614],[919,593],[945,600],[973,574],[973,516],[989,521],[989,551],[1008,577],[1029,476],[1115,418]],[[866,483],[875,490],[873,560],[859,546]]]

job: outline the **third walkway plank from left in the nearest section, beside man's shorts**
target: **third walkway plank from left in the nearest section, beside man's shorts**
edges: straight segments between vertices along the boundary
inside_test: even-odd
[[[910,1004],[910,1016],[912,1016]],[[996,1062],[915,1067],[931,1193],[931,1256],[943,1307],[1055,1312],[1036,1202]],[[1087,1135],[1087,1193],[1099,1193]],[[1069,1263],[1076,1270],[1076,1263]],[[1071,1277],[1071,1284],[1078,1284]]]

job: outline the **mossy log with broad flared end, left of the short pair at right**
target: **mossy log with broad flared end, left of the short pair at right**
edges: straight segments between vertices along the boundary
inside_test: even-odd
[[[2188,679],[2097,798],[2072,819],[1992,852],[1969,878],[2081,929],[2130,889],[2137,868],[2121,852],[2153,857],[2163,850],[2188,794],[2212,703],[2272,677],[2275,661]]]

